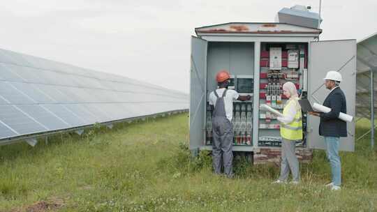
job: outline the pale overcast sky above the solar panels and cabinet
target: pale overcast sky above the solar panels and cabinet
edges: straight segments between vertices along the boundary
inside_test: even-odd
[[[281,0],[0,0],[0,48],[188,93],[194,28],[274,22]],[[321,40],[377,32],[376,0],[324,0]]]

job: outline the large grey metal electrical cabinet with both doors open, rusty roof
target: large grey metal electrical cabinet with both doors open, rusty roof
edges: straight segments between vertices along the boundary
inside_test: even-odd
[[[190,149],[212,149],[212,110],[209,93],[217,88],[219,70],[229,70],[229,89],[251,100],[233,103],[233,151],[274,149],[281,146],[276,116],[260,111],[267,104],[282,112],[288,100],[282,86],[293,82],[301,98],[323,103],[329,93],[323,86],[328,70],[343,76],[347,114],[355,115],[356,41],[319,41],[320,29],[282,23],[227,23],[196,28],[191,38]],[[346,85],[346,86],[343,86]],[[319,119],[303,114],[303,149],[323,149]],[[355,123],[347,123],[348,137],[341,150],[353,151]]]

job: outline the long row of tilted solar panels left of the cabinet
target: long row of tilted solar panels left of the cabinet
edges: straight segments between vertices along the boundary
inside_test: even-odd
[[[185,93],[0,50],[0,142],[182,109]]]

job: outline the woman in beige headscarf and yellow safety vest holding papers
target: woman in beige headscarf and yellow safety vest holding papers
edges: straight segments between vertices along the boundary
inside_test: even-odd
[[[292,173],[291,183],[300,182],[300,167],[295,154],[296,142],[302,140],[302,113],[298,103],[299,97],[295,84],[283,84],[283,94],[289,98],[283,109],[283,116],[278,116],[280,122],[281,169],[279,179],[274,183],[286,183],[289,170]]]

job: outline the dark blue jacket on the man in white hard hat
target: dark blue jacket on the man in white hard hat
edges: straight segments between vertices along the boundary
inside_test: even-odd
[[[347,113],[346,96],[340,87],[334,89],[323,102],[331,111],[320,114],[319,134],[330,137],[347,137],[347,123],[338,119],[339,112]]]

